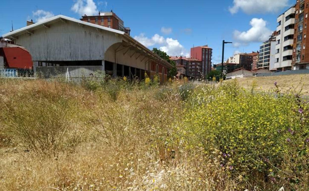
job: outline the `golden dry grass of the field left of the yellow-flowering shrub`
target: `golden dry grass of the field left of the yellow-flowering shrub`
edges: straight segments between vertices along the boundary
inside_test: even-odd
[[[115,88],[115,94],[44,80],[0,79],[0,190],[231,191],[267,190],[269,186],[280,189],[281,184],[271,182],[263,182],[258,189],[249,183],[254,181],[237,173],[236,178],[231,177],[226,173],[229,170],[220,167],[222,153],[218,150],[211,156],[198,143],[188,147],[187,143],[193,140],[183,140],[186,135],[177,128],[188,112],[185,109],[190,108],[182,101],[189,98],[194,87],[179,86],[131,85]],[[53,121],[59,115],[50,114],[58,110],[46,115],[46,104],[36,102],[57,103],[53,106],[67,109],[66,118],[62,119],[63,124],[68,124],[63,127],[66,132],[61,134],[61,143],[52,154],[36,152],[35,147],[16,134],[17,127],[43,128],[33,125],[36,115],[40,115],[32,112],[36,108],[46,116],[40,120],[48,122],[51,129],[57,124]],[[32,107],[29,103],[36,105]],[[23,122],[16,123],[20,119]],[[54,144],[36,144],[41,143]]]

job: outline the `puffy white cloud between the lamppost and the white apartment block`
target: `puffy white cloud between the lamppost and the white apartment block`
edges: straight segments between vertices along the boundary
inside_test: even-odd
[[[239,32],[238,30],[234,31],[234,39],[236,43],[235,47],[240,46],[241,44],[249,44],[251,42],[263,42],[269,39],[272,31],[266,27],[266,21],[263,19],[253,18],[250,21],[250,28],[248,31]]]

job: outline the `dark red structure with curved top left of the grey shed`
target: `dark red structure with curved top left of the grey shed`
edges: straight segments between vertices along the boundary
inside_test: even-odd
[[[24,48],[0,48],[0,56],[3,56],[6,68],[32,69],[33,67],[31,55]]]

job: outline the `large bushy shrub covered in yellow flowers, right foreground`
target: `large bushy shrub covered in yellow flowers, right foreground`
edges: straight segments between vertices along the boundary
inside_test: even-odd
[[[229,177],[241,175],[253,185],[299,182],[309,169],[307,104],[276,92],[252,93],[234,81],[197,88],[178,127],[181,139],[187,148],[203,147]],[[288,166],[295,160],[299,166]]]

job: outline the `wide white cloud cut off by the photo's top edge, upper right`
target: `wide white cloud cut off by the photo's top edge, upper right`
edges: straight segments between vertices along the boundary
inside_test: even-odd
[[[288,5],[288,0],[234,0],[229,11],[235,14],[241,9],[247,14],[278,12]]]

